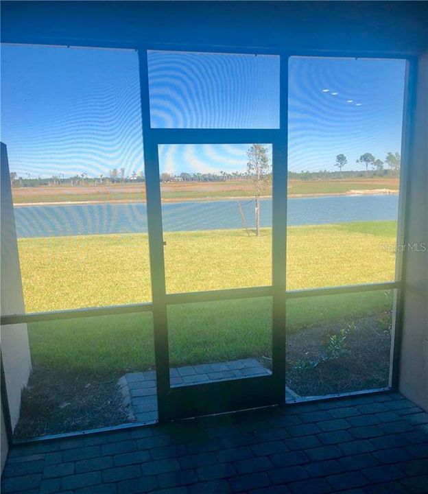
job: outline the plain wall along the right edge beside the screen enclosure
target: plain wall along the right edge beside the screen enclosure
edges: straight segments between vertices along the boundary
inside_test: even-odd
[[[414,136],[409,163],[405,302],[399,389],[428,410],[428,52],[418,62]]]

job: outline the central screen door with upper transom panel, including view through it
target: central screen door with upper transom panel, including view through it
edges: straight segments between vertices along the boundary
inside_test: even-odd
[[[139,55],[160,420],[282,403],[280,56]]]

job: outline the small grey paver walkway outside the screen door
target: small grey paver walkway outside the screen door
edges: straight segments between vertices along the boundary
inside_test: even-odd
[[[258,377],[270,374],[270,371],[254,358],[200,364],[171,368],[171,386],[227,381],[239,377]],[[123,395],[123,406],[130,420],[152,423],[158,417],[156,401],[156,375],[154,371],[128,373],[119,379],[119,388]],[[287,401],[296,395],[286,388]]]

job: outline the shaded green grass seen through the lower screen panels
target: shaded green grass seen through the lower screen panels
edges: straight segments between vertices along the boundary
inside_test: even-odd
[[[390,304],[384,292],[293,299],[287,332],[380,318]],[[270,297],[174,305],[168,320],[171,366],[271,356]],[[29,325],[29,342],[33,363],[58,371],[117,377],[154,367],[151,314],[36,322]]]

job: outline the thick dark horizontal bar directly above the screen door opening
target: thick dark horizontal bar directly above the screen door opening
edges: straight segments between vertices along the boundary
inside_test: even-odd
[[[147,138],[154,144],[273,144],[281,139],[280,128],[212,129],[150,128]]]

